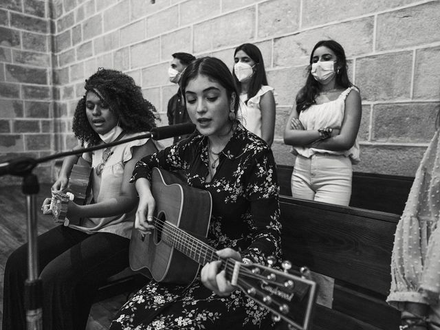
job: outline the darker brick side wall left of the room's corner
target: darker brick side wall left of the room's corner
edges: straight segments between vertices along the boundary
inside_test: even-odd
[[[54,151],[51,67],[47,1],[0,1],[0,162]],[[50,164],[35,173],[44,181]]]

